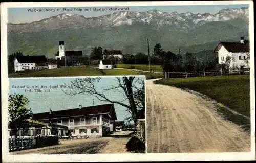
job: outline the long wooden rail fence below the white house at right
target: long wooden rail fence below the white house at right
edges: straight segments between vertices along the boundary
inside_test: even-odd
[[[205,76],[223,76],[223,75],[242,75],[250,74],[250,69],[229,69],[223,71],[223,69],[216,69],[210,71],[198,71],[198,72],[164,72],[166,78],[189,78],[189,77],[205,77]]]

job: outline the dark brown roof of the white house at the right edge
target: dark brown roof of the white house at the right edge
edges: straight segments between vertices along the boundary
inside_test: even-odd
[[[245,40],[244,43],[238,42],[220,42],[218,46],[215,48],[214,53],[217,53],[221,47],[224,48],[228,52],[239,53],[239,52],[249,52],[249,41]]]

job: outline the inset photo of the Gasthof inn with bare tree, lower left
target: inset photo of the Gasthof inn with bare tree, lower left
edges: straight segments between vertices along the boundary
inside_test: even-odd
[[[9,154],[146,152],[144,76],[9,80]]]

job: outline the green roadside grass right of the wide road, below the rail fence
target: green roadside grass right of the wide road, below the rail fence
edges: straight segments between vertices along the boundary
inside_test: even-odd
[[[197,91],[224,104],[233,111],[250,117],[249,75],[161,79],[154,81],[154,83]],[[217,106],[217,111],[227,120],[242,125],[245,130],[250,130],[250,120],[242,115],[234,114],[221,105]]]

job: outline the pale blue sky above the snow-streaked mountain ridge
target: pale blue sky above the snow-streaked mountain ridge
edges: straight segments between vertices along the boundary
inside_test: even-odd
[[[210,13],[216,14],[222,9],[227,8],[240,8],[240,7],[248,7],[249,5],[182,5],[182,6],[123,6],[129,7],[129,11],[138,11],[145,12],[149,10],[159,10],[162,12],[178,12],[178,13]],[[114,7],[114,6],[113,6]],[[54,12],[28,12],[30,8],[8,8],[8,22],[10,23],[26,23],[32,21],[38,21],[44,18],[48,18],[51,16],[55,16],[61,13],[67,14],[78,14],[83,15],[84,17],[95,17],[101,16],[105,14],[111,14],[116,11],[93,11],[94,7],[77,7],[82,9],[82,11],[63,11],[63,8],[70,9],[71,7],[59,7],[59,8],[49,8],[47,9],[55,9]],[[75,7],[72,7],[75,8]],[[91,8],[91,11],[84,11],[84,9]],[[104,8],[104,7],[97,7]],[[121,7],[118,7],[121,8]],[[46,8],[31,8],[31,9],[46,9]],[[57,11],[59,9],[59,11]]]

